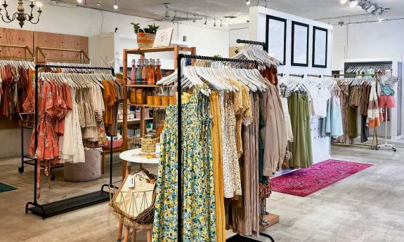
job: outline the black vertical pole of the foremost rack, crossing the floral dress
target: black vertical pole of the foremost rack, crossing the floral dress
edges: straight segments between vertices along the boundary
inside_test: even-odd
[[[181,190],[182,190],[182,185],[181,185],[181,180],[182,180],[182,166],[181,166],[181,152],[182,152],[182,130],[181,130],[181,126],[182,126],[182,107],[181,107],[181,59],[183,58],[182,54],[179,54],[177,57],[177,77],[178,77],[178,81],[177,81],[177,107],[178,107],[178,117],[177,117],[177,148],[178,148],[178,164],[177,164],[177,170],[178,170],[178,187],[177,187],[177,202],[178,202],[178,231],[177,231],[177,237],[178,237],[178,242],[182,241],[182,197],[181,197]]]

